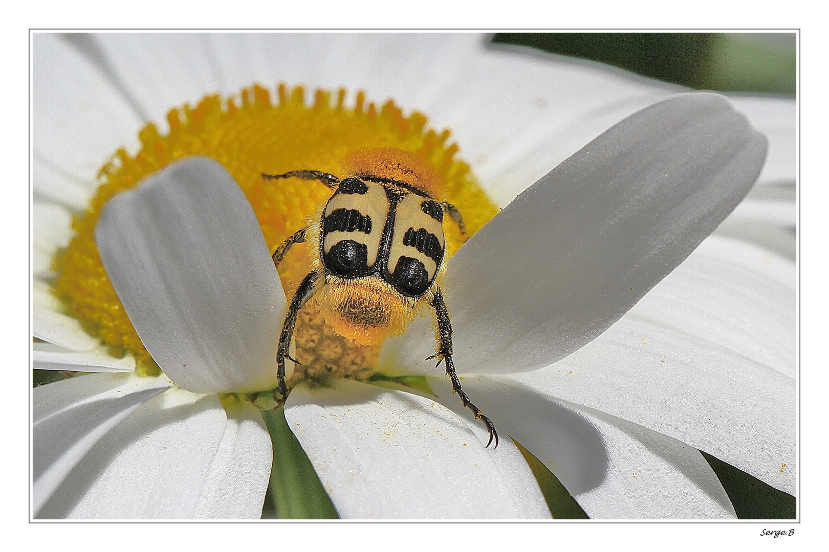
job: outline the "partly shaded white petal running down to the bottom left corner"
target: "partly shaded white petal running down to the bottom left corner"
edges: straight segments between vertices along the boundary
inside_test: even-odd
[[[138,406],[170,388],[166,378],[90,374],[32,390],[35,514],[72,468]]]

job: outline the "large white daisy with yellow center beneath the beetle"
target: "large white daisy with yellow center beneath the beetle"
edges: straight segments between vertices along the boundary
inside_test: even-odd
[[[34,366],[95,372],[33,390],[35,516],[260,516],[259,408],[280,407],[276,338],[308,272],[302,248],[279,275],[270,252],[330,191],[259,175],[336,173],[372,145],[431,162],[464,215],[441,286],[502,439],[485,448],[424,361],[431,316],[360,348],[308,305],[284,414],[341,517],[549,518],[513,439],[594,518],[733,518],[701,450],[794,494],[793,266],[758,247],[788,251],[791,103],[668,98],[475,35],[33,51]],[[253,82],[308,88],[236,94]]]

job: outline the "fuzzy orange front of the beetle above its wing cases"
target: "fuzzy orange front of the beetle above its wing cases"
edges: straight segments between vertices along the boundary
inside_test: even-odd
[[[365,178],[400,180],[438,201],[445,199],[446,183],[434,167],[411,151],[371,147],[352,151],[341,162],[343,173]]]

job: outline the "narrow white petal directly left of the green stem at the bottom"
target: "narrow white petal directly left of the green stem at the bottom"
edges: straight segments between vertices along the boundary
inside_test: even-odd
[[[196,504],[196,519],[259,519],[274,449],[261,411],[246,402],[225,405],[227,429]]]

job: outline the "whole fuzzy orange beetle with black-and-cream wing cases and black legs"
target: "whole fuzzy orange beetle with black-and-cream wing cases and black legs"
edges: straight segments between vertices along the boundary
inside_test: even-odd
[[[419,310],[431,307],[437,318],[437,353],[426,360],[445,362],[446,374],[463,406],[489,431],[487,447],[498,434],[492,421],[461,388],[452,359],[452,324],[439,282],[444,261],[444,214],[466,233],[463,217],[443,200],[444,184],[431,166],[410,151],[393,147],[354,151],[341,163],[346,177],[320,170],[291,170],[265,180],[319,180],[333,190],[300,228],[274,251],[274,266],[297,243],[306,243],[313,270],[303,278],[288,305],[279,334],[277,379],[283,400],[285,358],[297,315],[316,295],[322,315],[337,334],[358,345],[402,334]],[[427,307],[428,305],[428,307]]]

